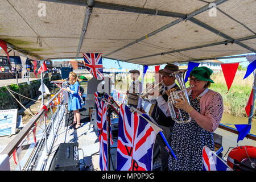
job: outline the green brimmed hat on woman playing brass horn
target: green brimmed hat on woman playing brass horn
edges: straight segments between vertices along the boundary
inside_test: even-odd
[[[213,80],[210,79],[210,75],[212,75],[212,69],[210,69],[210,68],[207,68],[207,67],[195,67],[190,72],[190,75],[196,77],[199,80],[209,81],[209,82],[214,83]]]

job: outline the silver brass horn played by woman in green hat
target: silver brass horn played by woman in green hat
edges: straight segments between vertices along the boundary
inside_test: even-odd
[[[174,119],[175,122],[177,123],[189,123],[191,121],[191,116],[188,114],[189,119],[187,121],[184,121],[180,109],[177,109],[176,107],[176,101],[175,99],[181,99],[181,100],[187,100],[188,104],[190,105],[189,98],[188,98],[188,92],[187,89],[192,88],[194,85],[191,85],[189,88],[185,87],[185,82],[184,82],[184,73],[187,70],[181,70],[177,71],[174,73],[171,73],[170,76],[174,76],[180,86],[180,90],[175,90],[170,92],[170,96],[168,97],[168,109],[171,113],[172,119]],[[175,108],[175,107],[176,108]]]

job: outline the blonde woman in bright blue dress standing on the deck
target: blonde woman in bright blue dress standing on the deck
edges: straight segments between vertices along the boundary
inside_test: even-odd
[[[69,92],[68,110],[73,111],[74,121],[72,125],[74,129],[78,129],[81,126],[79,109],[82,108],[81,98],[79,96],[79,81],[75,72],[70,72],[68,78],[71,84],[68,88],[63,89]]]

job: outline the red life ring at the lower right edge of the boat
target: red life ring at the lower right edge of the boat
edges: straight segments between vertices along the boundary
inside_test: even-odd
[[[247,153],[246,153],[247,152]],[[242,162],[243,159],[256,158],[256,147],[254,146],[238,146],[233,148],[228,155],[228,166],[234,169],[234,160]],[[254,164],[255,165],[255,164]]]

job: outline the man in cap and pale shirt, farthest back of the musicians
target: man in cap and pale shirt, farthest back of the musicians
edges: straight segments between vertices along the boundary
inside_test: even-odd
[[[131,73],[131,85],[126,94],[128,94],[128,102],[130,106],[136,109],[141,109],[142,98],[138,96],[142,92],[142,83],[138,80],[139,71],[137,69],[129,71]]]

